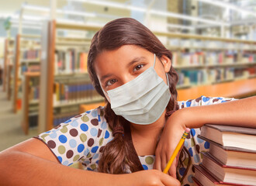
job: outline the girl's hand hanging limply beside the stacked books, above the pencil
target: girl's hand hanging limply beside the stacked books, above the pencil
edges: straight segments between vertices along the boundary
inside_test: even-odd
[[[154,168],[158,171],[164,171],[164,168],[168,164],[168,161],[170,160],[170,157],[174,152],[179,140],[181,140],[182,138],[182,134],[184,133],[186,128],[183,119],[185,119],[185,115],[182,114],[182,110],[178,110],[168,118],[164,126],[161,139],[157,144],[157,149],[155,152],[156,157],[154,162]],[[179,153],[171,164],[171,168],[168,171],[168,174],[171,175],[171,177],[175,178]]]

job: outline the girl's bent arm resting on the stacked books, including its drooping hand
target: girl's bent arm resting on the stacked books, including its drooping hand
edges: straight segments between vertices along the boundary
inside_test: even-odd
[[[172,152],[175,150],[185,128],[199,128],[206,123],[247,126],[256,128],[256,96],[223,102],[216,105],[202,105],[182,108],[174,112],[164,126],[161,140],[156,150],[154,167],[162,171],[166,166]],[[166,143],[166,142],[171,143]],[[169,174],[175,177],[175,162]]]

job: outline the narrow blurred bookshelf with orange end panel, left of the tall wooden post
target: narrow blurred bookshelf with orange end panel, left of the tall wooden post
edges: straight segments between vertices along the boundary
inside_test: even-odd
[[[22,108],[22,80],[26,71],[40,71],[40,36],[17,34],[13,64],[12,110]]]

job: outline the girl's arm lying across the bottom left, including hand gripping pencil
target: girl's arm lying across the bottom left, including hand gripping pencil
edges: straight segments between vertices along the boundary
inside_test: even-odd
[[[36,139],[0,152],[0,172],[3,185],[180,185],[157,170],[114,175],[67,167]]]

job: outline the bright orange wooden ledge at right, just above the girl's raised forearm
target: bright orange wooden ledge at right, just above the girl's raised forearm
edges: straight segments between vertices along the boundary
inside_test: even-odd
[[[185,101],[199,98],[202,95],[209,97],[242,98],[253,94],[256,94],[256,78],[181,89],[178,90],[178,100]]]

